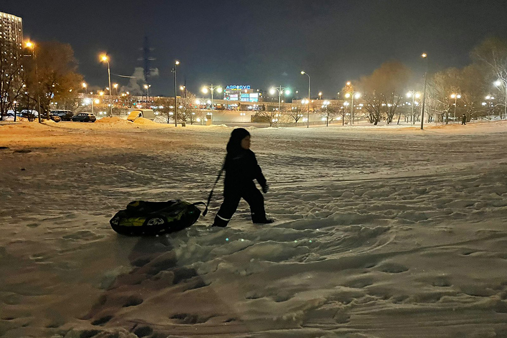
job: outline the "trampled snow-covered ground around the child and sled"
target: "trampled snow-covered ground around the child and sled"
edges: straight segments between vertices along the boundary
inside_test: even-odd
[[[204,201],[232,128],[0,126],[0,336],[507,337],[507,123],[250,128],[269,226],[127,238]]]

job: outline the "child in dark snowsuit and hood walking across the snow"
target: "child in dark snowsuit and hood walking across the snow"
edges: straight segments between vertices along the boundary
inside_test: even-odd
[[[266,219],[264,197],[253,180],[257,180],[262,191],[268,191],[268,184],[253,151],[250,150],[250,133],[244,128],[234,129],[227,144],[227,156],[224,163],[224,202],[215,216],[213,226],[227,226],[236,212],[239,200],[244,198],[250,205],[253,223],[272,223]]]

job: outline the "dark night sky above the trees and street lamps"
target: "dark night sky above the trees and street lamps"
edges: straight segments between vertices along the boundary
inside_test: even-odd
[[[37,4],[37,5],[36,5]],[[154,48],[152,94],[178,85],[290,86],[331,97],[344,82],[399,59],[421,71],[426,51],[431,69],[463,66],[469,51],[490,35],[507,38],[505,1],[62,1],[2,0],[0,11],[23,18],[25,38],[71,44],[90,85],[107,85],[102,51],[113,74],[142,66],[144,36]],[[112,82],[127,85],[117,76]]]

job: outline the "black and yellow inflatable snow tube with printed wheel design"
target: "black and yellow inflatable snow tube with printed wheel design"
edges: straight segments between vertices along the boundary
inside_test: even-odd
[[[166,202],[135,200],[109,222],[113,230],[129,236],[175,232],[197,221],[201,211],[196,206],[200,204],[204,205],[203,202],[191,204],[179,199]]]

